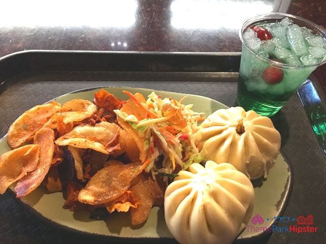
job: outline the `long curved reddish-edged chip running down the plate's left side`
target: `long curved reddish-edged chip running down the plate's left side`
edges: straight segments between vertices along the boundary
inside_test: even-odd
[[[36,169],[22,177],[16,187],[17,197],[23,197],[34,191],[50,169],[55,150],[55,133],[50,128],[42,128],[35,133],[34,144],[40,145],[40,158]]]

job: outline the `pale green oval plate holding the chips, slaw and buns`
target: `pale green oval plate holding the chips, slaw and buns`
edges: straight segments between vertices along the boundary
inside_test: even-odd
[[[148,96],[153,90],[145,88],[131,88],[131,87],[96,87],[84,90],[78,90],[58,97],[55,101],[64,104],[72,99],[85,99],[92,101],[94,92],[99,88],[106,89],[114,96],[127,100],[128,97],[122,93],[123,90],[128,90],[131,93],[141,93],[145,97]],[[174,99],[181,99],[185,94],[164,92],[154,90],[156,94],[162,97],[171,97]],[[184,104],[194,104],[193,110],[197,112],[205,112],[209,115],[212,112],[228,108],[226,105],[197,95],[187,95]],[[0,155],[9,151],[10,147],[7,144],[7,136],[0,141]],[[287,198],[291,187],[291,173],[288,164],[280,154],[276,160],[275,165],[270,169],[267,179],[260,178],[253,181],[255,190],[255,206],[253,216],[260,215],[264,219],[264,224],[259,225],[250,222],[251,228],[246,228],[238,236],[238,239],[256,239],[260,236],[269,234],[266,229],[274,225],[274,217],[280,216],[286,205]],[[13,190],[11,188],[11,190]],[[59,224],[64,227],[71,228],[77,231],[88,232],[91,234],[98,234],[107,236],[108,239],[123,238],[124,240],[134,240],[135,238],[145,238],[147,240],[158,240],[161,238],[167,241],[173,239],[169,232],[165,219],[164,209],[154,207],[152,208],[148,220],[141,226],[133,227],[130,223],[130,218],[127,213],[114,213],[107,220],[92,220],[89,218],[88,211],[72,212],[64,209],[64,198],[62,193],[48,194],[43,187],[39,187],[30,195],[20,198],[19,201],[24,203],[26,207],[33,208],[37,215],[50,220],[53,223]],[[50,209],[50,210],[49,210]],[[252,216],[252,217],[253,217]],[[261,231],[256,231],[259,227]],[[254,228],[254,229],[253,229]]]

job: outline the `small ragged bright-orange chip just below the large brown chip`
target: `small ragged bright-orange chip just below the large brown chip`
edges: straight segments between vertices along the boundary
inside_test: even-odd
[[[113,200],[112,202],[105,203],[105,207],[110,214],[117,210],[118,212],[127,212],[129,208],[136,208],[140,201],[134,198],[132,192],[126,191],[122,196]]]

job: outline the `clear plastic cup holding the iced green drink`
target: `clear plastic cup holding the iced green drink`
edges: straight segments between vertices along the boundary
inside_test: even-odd
[[[240,29],[242,54],[240,62],[237,103],[246,110],[254,110],[260,115],[273,116],[290,99],[318,66],[326,63],[326,56],[313,65],[290,65],[284,60],[271,59],[261,49],[252,49],[244,32],[251,26],[265,22],[280,21],[288,17],[300,27],[307,27],[312,34],[326,40],[326,32],[320,26],[301,17],[284,13],[269,13],[247,19]],[[286,37],[285,37],[286,38]],[[287,40],[287,39],[285,39]],[[324,47],[326,48],[326,46]]]

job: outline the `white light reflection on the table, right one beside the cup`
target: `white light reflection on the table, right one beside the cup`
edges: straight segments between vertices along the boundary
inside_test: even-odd
[[[244,19],[272,12],[274,6],[273,1],[175,0],[171,4],[171,25],[186,29],[239,29]]]

